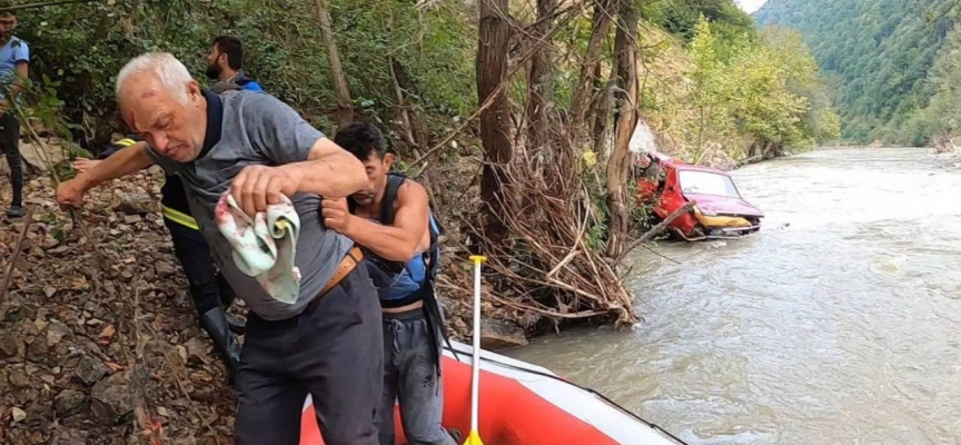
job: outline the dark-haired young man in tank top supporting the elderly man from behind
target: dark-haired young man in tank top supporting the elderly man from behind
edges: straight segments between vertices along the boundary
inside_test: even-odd
[[[377,127],[354,122],[337,130],[334,142],[364,162],[368,185],[347,200],[321,202],[324,225],[365,251],[364,263],[380,295],[384,315],[384,397],[377,409],[380,445],[394,444],[394,404],[408,443],[457,445],[459,434],[440,426],[443,322],[432,285],[436,269],[436,226],[427,190],[389,174]],[[457,436],[456,438],[452,436]]]

